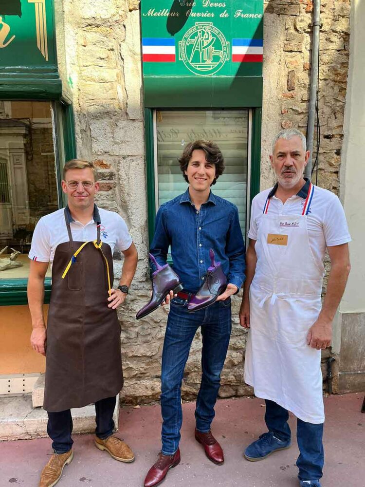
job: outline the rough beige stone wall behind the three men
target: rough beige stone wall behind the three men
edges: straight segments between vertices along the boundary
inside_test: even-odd
[[[265,2],[264,106],[261,187],[273,177],[268,154],[280,127],[307,123],[311,38],[310,0]],[[125,386],[122,400],[156,401],[167,309],[135,320],[149,299],[144,123],[141,98],[140,26],[137,0],[64,0],[68,72],[74,96],[77,151],[95,161],[101,191],[97,203],[126,220],[139,252],[131,293],[119,310]],[[319,184],[337,190],[342,145],[349,1],[322,0]],[[115,275],[122,260],[116,255]],[[246,332],[233,303],[233,330],[219,395],[252,393],[243,382]],[[183,379],[183,398],[196,396],[201,336],[197,333]]]

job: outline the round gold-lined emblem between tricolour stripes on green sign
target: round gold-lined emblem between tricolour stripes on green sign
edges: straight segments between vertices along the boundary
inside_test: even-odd
[[[179,42],[179,59],[195,75],[214,75],[229,59],[229,42],[212,22],[196,22]]]

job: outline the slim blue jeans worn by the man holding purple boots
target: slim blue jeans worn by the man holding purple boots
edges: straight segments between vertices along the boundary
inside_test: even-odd
[[[220,373],[231,336],[231,300],[218,301],[194,313],[179,297],[168,314],[161,372],[162,452],[172,455],[179,447],[183,422],[181,384],[191,342],[201,326],[201,386],[195,410],[197,430],[207,432],[213,421]]]

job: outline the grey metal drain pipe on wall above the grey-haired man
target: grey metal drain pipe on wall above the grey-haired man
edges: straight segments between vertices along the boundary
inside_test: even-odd
[[[313,34],[312,34],[312,55],[310,69],[310,95],[309,95],[309,112],[307,126],[307,150],[310,156],[305,169],[305,176],[311,178],[312,175],[312,152],[314,139],[314,120],[315,120],[315,103],[317,96],[318,81],[318,59],[319,59],[319,27],[320,27],[320,9],[321,0],[313,1]]]

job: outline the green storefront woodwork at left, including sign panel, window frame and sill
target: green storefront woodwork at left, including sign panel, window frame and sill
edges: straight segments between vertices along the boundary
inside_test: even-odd
[[[56,0],[57,2],[57,0]],[[57,57],[53,0],[0,2],[0,100],[49,101],[53,110],[57,184],[65,161],[76,156],[72,98]],[[60,193],[58,203],[62,206]],[[1,279],[0,305],[26,304],[27,279]],[[51,281],[45,282],[49,302]]]

